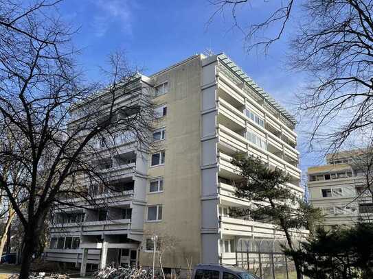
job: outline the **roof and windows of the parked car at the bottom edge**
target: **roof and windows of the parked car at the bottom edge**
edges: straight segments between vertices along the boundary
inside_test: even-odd
[[[260,279],[255,274],[234,265],[199,264],[193,269],[192,279]]]

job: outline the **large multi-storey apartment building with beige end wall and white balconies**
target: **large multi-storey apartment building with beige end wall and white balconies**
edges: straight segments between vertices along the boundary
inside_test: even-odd
[[[121,195],[103,210],[76,210],[64,228],[53,225],[47,259],[81,267],[152,265],[152,235],[176,240],[163,255],[166,269],[193,263],[235,263],[241,238],[282,238],[270,223],[229,215],[250,206],[234,196],[236,152],[258,156],[290,173],[299,186],[295,119],[225,54],[195,55],[148,77],[156,104],[154,150],[136,138],[120,142],[110,171]],[[99,194],[99,193],[98,193]],[[100,198],[100,195],[98,195]]]

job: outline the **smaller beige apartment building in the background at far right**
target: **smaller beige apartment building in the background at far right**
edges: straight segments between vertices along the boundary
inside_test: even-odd
[[[308,168],[310,202],[323,210],[326,228],[372,218],[372,196],[366,187],[372,174],[367,156],[361,149],[341,151],[328,154],[326,165]]]

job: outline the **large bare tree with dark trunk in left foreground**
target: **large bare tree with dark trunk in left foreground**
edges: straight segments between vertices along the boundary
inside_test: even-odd
[[[149,95],[122,53],[109,58],[109,86],[84,85],[71,29],[48,10],[57,2],[0,4],[0,123],[10,132],[5,140],[14,143],[0,151],[0,165],[25,169],[21,182],[0,173],[0,189],[24,228],[20,278],[28,278],[51,208],[74,206],[76,199],[89,203],[93,184],[110,188],[95,161],[102,157],[98,138],[128,132],[143,146],[151,130]],[[120,99],[126,105],[117,106]],[[24,195],[24,208],[14,187]]]

